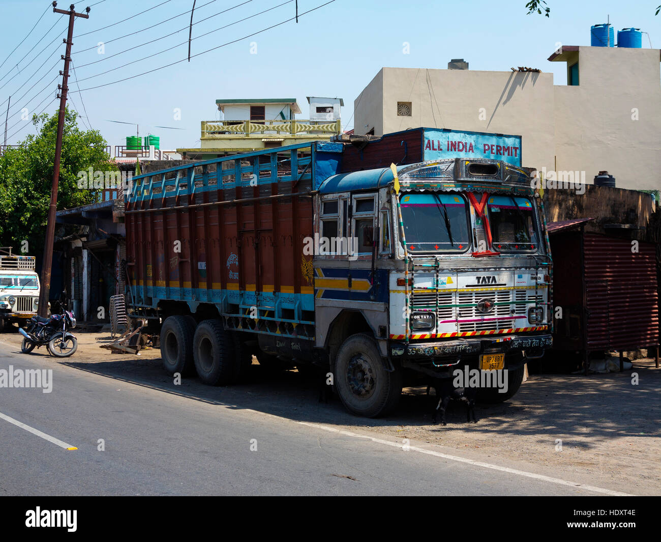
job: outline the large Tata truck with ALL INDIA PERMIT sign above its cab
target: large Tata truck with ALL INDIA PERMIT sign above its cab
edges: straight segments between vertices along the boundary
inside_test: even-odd
[[[347,136],[134,177],[128,310],[157,330],[165,370],[227,385],[253,355],[316,366],[370,418],[457,369],[507,375],[483,400],[514,395],[552,343],[539,189],[513,154],[481,156],[500,135],[466,132],[472,154],[432,159],[425,148],[445,152],[453,134],[405,135],[404,158]]]

